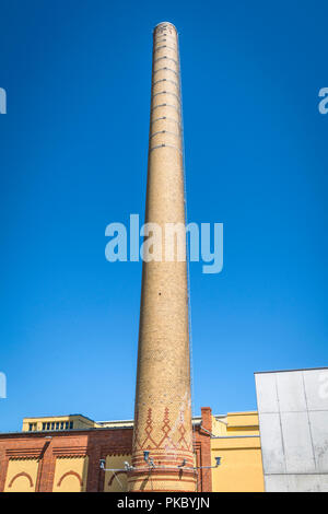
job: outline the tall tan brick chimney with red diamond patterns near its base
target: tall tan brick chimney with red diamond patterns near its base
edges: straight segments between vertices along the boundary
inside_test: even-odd
[[[178,35],[167,22],[153,32],[150,117],[145,222],[162,227],[164,259],[165,223],[185,224]],[[143,262],[130,491],[196,489],[187,262],[176,257]]]

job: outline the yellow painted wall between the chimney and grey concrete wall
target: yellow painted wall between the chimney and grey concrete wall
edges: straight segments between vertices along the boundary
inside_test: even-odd
[[[213,418],[211,439],[213,492],[262,492],[265,490],[257,412],[232,412]]]

